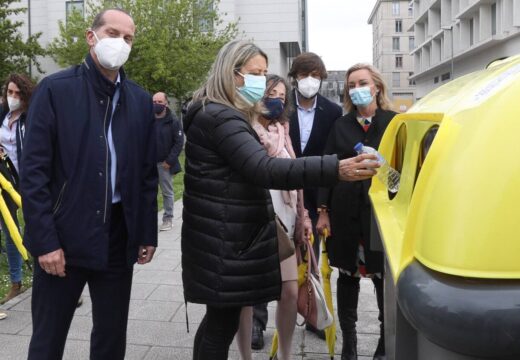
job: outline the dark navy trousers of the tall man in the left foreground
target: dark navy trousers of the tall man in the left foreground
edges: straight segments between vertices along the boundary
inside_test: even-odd
[[[120,205],[112,207],[109,231],[110,255],[106,270],[67,266],[66,276],[60,278],[47,274],[35,260],[29,360],[63,357],[70,323],[85,284],[92,299],[90,358],[124,359],[133,271],[126,262],[127,233]]]

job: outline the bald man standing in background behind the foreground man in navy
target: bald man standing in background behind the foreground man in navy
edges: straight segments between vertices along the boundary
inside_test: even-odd
[[[155,129],[157,131],[157,172],[159,187],[163,197],[164,213],[159,231],[172,228],[173,220],[173,183],[172,176],[181,172],[179,154],[184,144],[184,133],[180,121],[168,107],[168,98],[163,92],[153,96],[153,111],[155,113]]]

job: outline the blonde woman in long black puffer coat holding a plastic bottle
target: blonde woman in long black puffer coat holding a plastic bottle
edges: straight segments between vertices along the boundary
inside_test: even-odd
[[[184,121],[182,278],[186,301],[206,304],[194,360],[227,359],[243,306],[279,299],[274,211],[267,189],[332,186],[375,174],[360,155],[271,158],[251,120],[261,111],[267,55],[232,41],[217,55]],[[376,165],[374,165],[375,167]]]

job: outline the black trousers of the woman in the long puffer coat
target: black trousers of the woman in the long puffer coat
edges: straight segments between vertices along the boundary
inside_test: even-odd
[[[206,315],[195,334],[193,360],[227,360],[238,330],[241,307],[206,306]]]

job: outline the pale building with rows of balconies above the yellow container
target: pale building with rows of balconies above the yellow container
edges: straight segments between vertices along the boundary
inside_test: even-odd
[[[520,53],[519,0],[413,0],[410,5],[418,98],[493,60]]]

